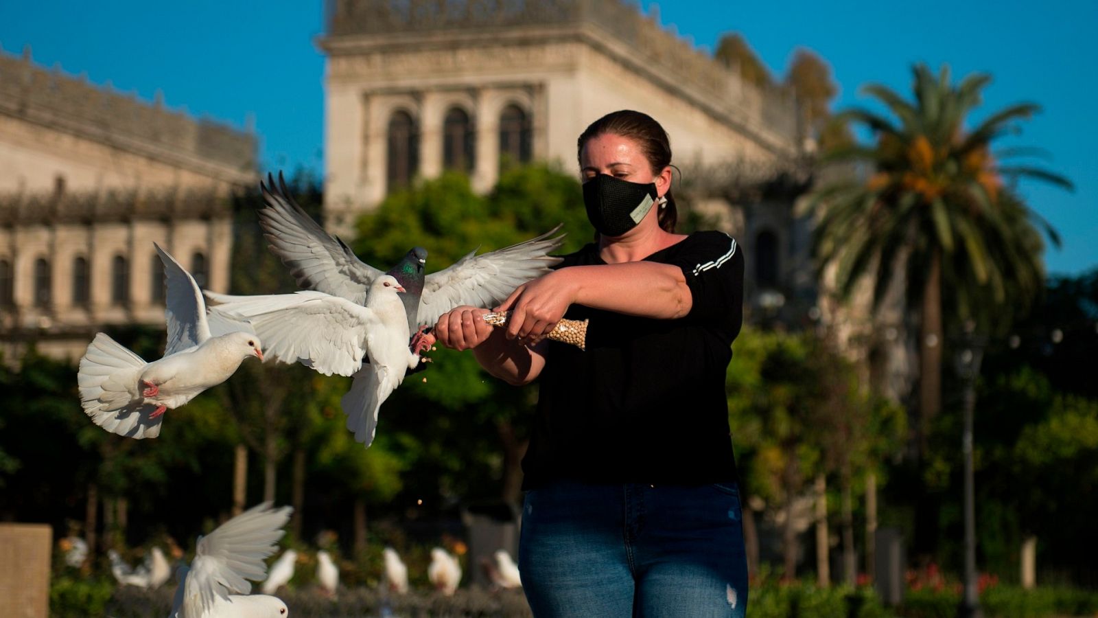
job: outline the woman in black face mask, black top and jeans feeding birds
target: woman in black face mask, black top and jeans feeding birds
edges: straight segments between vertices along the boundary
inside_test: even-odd
[[[514,385],[540,378],[523,460],[519,570],[541,616],[743,616],[747,564],[725,397],[743,256],[720,232],[674,233],[666,132],[636,111],[579,140],[597,242],[494,310],[435,334]],[[585,319],[586,351],[544,340]]]

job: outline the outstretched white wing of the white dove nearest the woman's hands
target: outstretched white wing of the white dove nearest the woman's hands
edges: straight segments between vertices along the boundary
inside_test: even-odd
[[[338,296],[298,291],[229,296],[208,291],[215,322],[246,321],[264,342],[264,354],[301,362],[324,375],[349,376],[362,365],[369,334],[384,328],[377,314]]]

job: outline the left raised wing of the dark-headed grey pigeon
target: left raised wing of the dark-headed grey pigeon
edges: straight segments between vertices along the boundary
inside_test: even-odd
[[[289,196],[281,173],[278,187],[269,174],[267,183],[260,184],[267,208],[258,211],[259,225],[298,285],[365,304],[370,283],[381,271],[360,261],[338,236],[313,221]]]

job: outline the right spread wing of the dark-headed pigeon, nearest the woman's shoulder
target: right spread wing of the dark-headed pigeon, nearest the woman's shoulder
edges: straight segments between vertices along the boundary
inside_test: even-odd
[[[434,324],[438,317],[459,305],[491,308],[503,302],[516,287],[548,274],[559,257],[547,255],[559,247],[563,236],[551,239],[552,230],[526,242],[475,255],[475,251],[449,268],[427,275],[419,297],[421,324]],[[260,336],[262,336],[260,334]]]

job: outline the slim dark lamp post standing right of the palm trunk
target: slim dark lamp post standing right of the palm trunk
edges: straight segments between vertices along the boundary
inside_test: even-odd
[[[964,383],[964,429],[961,435],[961,452],[964,456],[964,597],[959,611],[961,618],[984,616],[976,586],[976,481],[973,471],[972,417],[976,407],[976,378],[979,377],[985,341],[975,331],[975,322],[965,322],[956,352],[957,375]]]

